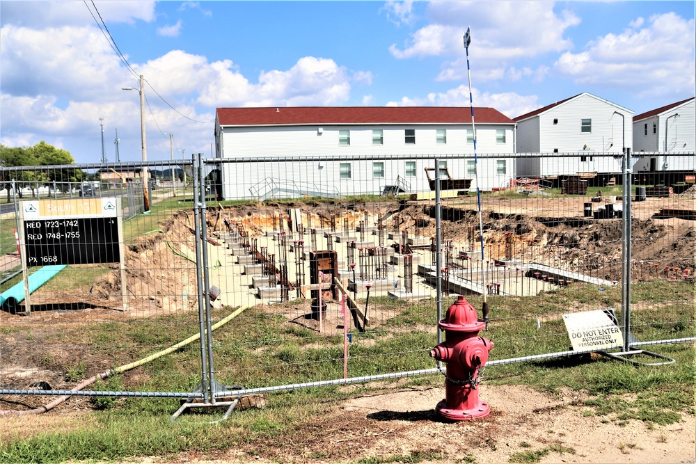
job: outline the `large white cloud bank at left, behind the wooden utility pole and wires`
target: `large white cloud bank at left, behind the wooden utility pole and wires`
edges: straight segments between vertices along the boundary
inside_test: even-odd
[[[109,138],[118,129],[122,160],[139,159],[138,95],[120,90],[137,87],[138,82],[95,26],[30,29],[8,24],[0,35],[0,143],[22,146],[45,140],[65,147],[79,162],[97,161],[99,118],[104,118]],[[147,82],[145,122],[151,159],[169,157],[168,136],[159,131],[175,134],[175,142],[187,153],[207,153],[216,106],[341,104],[354,83],[372,82],[371,72],[348,70],[331,59],[312,56],[251,80],[231,60],[210,62],[182,50],[131,65]],[[113,144],[109,147],[107,154],[113,160]]]

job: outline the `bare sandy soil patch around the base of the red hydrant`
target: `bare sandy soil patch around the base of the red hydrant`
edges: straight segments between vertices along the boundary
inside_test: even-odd
[[[420,456],[431,463],[507,463],[516,453],[548,451],[541,463],[694,462],[693,415],[649,429],[642,422],[619,425],[580,406],[583,394],[557,395],[518,385],[482,385],[491,415],[445,422],[434,406],[443,389],[409,388],[348,401],[334,413],[313,418],[283,440],[254,440],[215,456],[216,462],[342,463],[361,458]],[[553,451],[556,449],[558,451]],[[196,456],[196,461],[205,456]],[[191,456],[185,458],[190,459]],[[379,461],[378,461],[379,462]]]

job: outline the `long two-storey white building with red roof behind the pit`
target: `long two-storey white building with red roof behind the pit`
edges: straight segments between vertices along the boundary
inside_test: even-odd
[[[509,186],[514,122],[492,108],[475,108],[474,118],[477,154],[487,154],[479,159],[481,189]],[[222,163],[226,200],[430,191],[425,168],[443,154],[467,159],[442,160],[441,176],[472,179],[476,189],[469,107],[218,108],[215,152],[239,161]],[[278,157],[293,161],[254,161]]]

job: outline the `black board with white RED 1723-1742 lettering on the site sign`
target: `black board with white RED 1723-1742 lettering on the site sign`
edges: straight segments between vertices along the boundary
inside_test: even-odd
[[[115,217],[24,220],[27,266],[118,262]]]

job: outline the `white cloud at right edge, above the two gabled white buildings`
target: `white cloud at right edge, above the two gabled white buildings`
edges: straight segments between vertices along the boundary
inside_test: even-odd
[[[589,42],[577,54],[565,52],[554,67],[577,84],[601,83],[631,90],[638,98],[693,95],[695,40],[693,19],[674,13],[654,15],[647,24],[635,20],[621,34]]]

